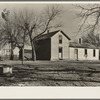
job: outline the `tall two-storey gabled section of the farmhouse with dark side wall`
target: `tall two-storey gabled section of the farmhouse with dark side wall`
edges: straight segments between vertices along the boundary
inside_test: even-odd
[[[70,38],[63,31],[48,32],[37,38],[37,60],[69,59]]]

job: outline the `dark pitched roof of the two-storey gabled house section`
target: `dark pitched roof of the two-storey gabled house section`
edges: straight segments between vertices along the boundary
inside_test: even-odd
[[[61,30],[57,30],[57,31],[53,31],[53,32],[50,32],[50,33],[47,33],[47,34],[43,34],[41,36],[39,36],[36,40],[43,40],[43,39],[48,39],[48,38],[51,38],[53,35],[55,35],[56,33],[58,32],[61,32],[68,40],[70,40],[70,38]]]

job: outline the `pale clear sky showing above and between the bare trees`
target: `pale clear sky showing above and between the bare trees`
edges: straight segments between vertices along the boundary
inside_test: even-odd
[[[48,4],[49,3],[46,4],[45,3],[0,3],[0,12],[2,12],[2,10],[5,8],[10,10],[10,12],[14,10],[24,9],[24,8],[41,11]],[[65,4],[60,3],[60,5],[63,7],[64,10],[63,14],[59,18],[59,21],[62,22],[63,24],[61,30],[63,30],[72,40],[82,35],[80,33],[77,34],[80,25],[80,20],[76,18],[77,17],[76,14],[80,12],[80,9],[76,7],[76,4],[77,3],[65,3]]]

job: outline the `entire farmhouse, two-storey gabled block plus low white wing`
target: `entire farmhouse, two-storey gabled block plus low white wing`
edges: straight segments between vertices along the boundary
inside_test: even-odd
[[[99,48],[87,43],[70,42],[61,30],[48,32],[36,39],[37,60],[99,60]]]

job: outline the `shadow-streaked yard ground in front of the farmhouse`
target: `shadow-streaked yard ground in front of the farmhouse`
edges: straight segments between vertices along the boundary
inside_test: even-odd
[[[2,61],[11,76],[0,76],[0,86],[100,86],[100,61]]]

